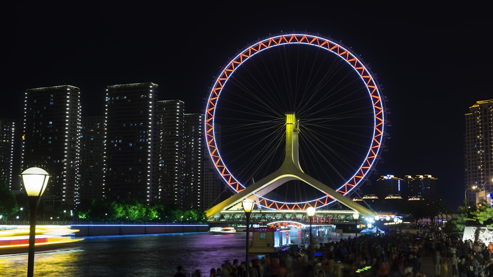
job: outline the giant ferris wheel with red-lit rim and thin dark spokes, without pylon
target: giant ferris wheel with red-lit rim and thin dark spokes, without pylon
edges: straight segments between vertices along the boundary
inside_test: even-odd
[[[297,119],[304,173],[344,195],[364,183],[385,137],[384,101],[375,77],[340,43],[288,33],[240,51],[211,87],[205,139],[229,188],[238,193],[282,164],[286,114]],[[268,209],[335,202],[297,180],[266,188],[257,197],[257,204]]]

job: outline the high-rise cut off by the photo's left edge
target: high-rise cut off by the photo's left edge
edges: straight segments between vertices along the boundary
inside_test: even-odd
[[[16,147],[15,122],[0,119],[0,185],[19,190],[18,182],[14,183],[14,154]],[[15,179],[18,180],[18,179]]]

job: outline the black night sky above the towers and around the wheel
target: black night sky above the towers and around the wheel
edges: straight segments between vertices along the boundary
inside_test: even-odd
[[[139,82],[202,112],[213,77],[238,51],[282,31],[319,33],[351,47],[384,88],[391,139],[378,174],[431,174],[449,205],[461,203],[463,115],[493,98],[486,6],[232,2],[6,7],[0,116],[20,117],[26,89],[56,85],[79,87],[83,114],[98,115],[107,85]]]

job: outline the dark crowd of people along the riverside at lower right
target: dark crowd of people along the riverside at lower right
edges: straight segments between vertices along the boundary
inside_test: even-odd
[[[423,259],[431,260],[434,277],[493,277],[490,242],[451,240],[428,226],[418,234],[367,234],[292,248],[248,261],[249,277],[426,277]],[[192,277],[245,277],[246,262],[224,261]],[[181,267],[176,277],[187,276]],[[428,272],[428,277],[431,273]]]

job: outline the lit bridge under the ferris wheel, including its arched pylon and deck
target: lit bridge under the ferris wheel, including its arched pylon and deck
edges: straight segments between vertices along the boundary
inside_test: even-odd
[[[316,220],[323,222],[348,221],[353,222],[353,213],[358,213],[360,218],[374,218],[377,213],[352,201],[349,197],[335,191],[331,187],[316,180],[303,172],[299,163],[298,154],[298,134],[299,121],[296,120],[294,113],[286,113],[286,143],[284,161],[279,169],[259,180],[253,185],[247,186],[238,193],[215,205],[206,211],[208,222],[243,222],[245,212],[243,211],[242,201],[251,199],[256,204],[257,209],[251,213],[252,220],[275,221],[275,220],[308,220],[306,209],[314,207],[316,209]],[[325,200],[317,200],[314,203],[304,205],[282,205],[276,207],[266,207],[267,201],[263,196],[270,190],[275,189],[288,181],[299,180],[310,185],[326,195]],[[324,207],[332,200],[336,200],[346,206],[348,210],[323,210],[317,206]]]

